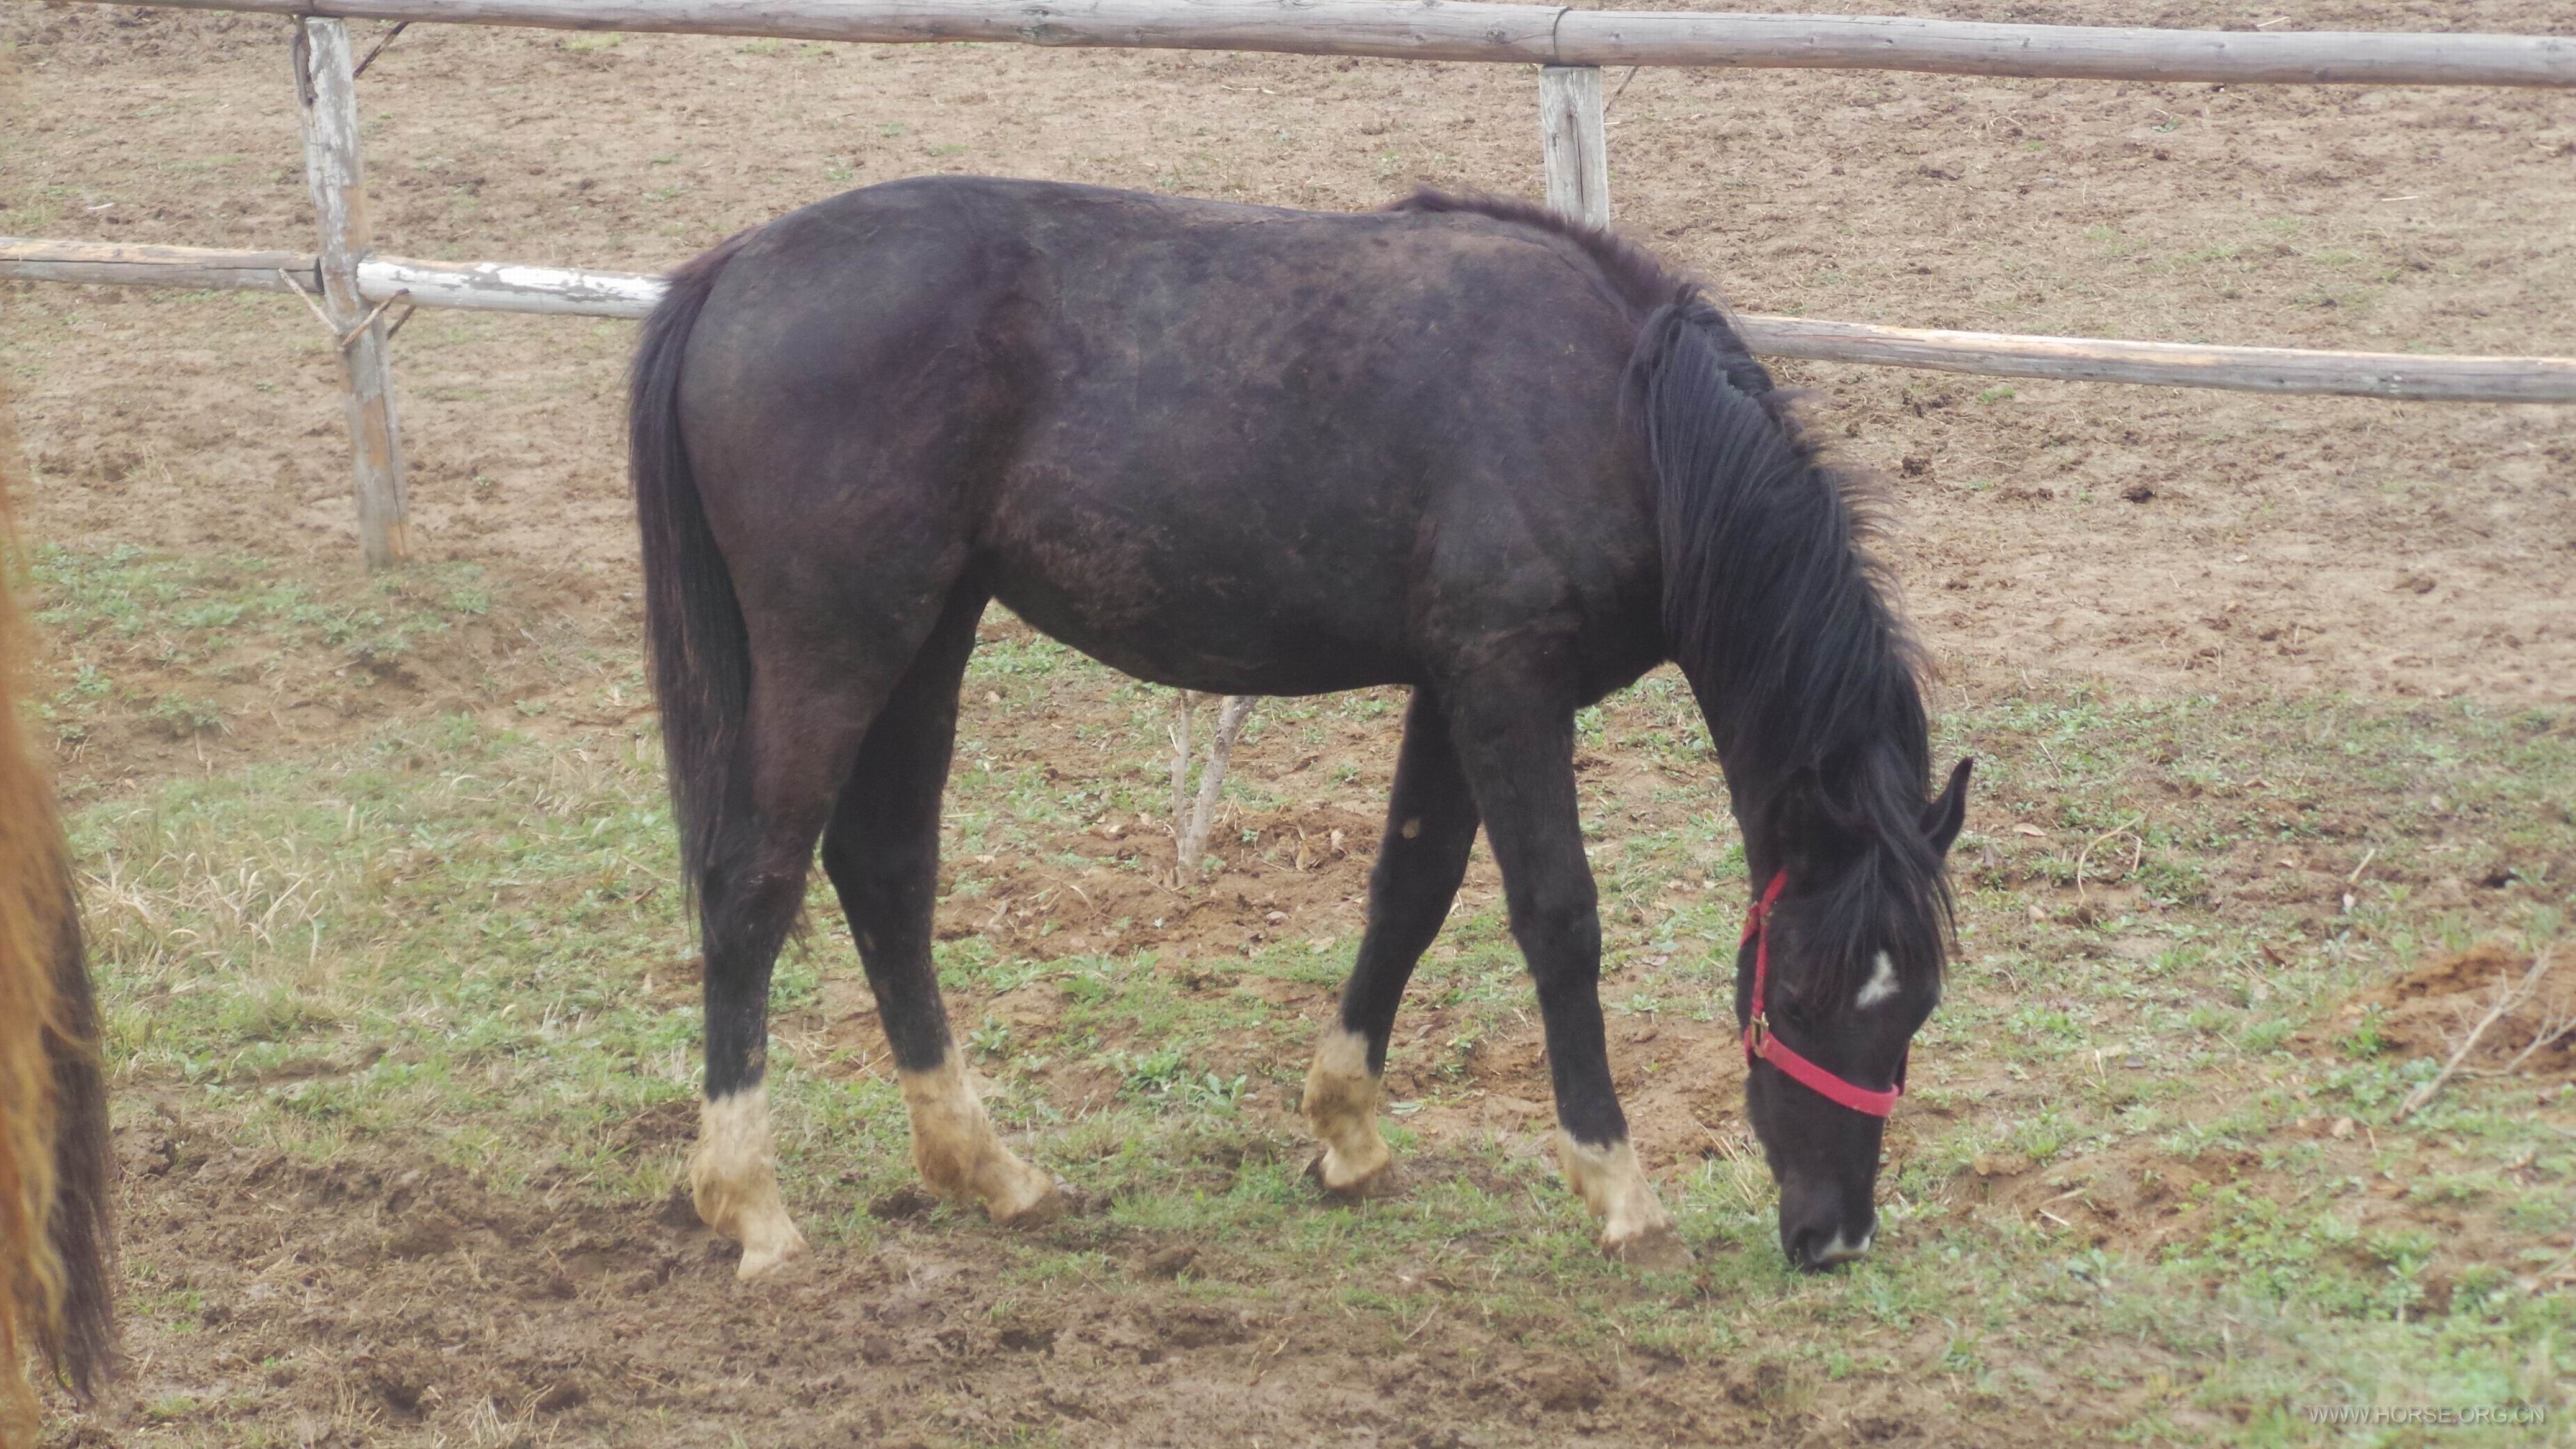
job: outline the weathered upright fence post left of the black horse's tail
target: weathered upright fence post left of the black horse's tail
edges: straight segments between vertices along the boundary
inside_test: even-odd
[[[304,121],[304,180],[322,221],[322,311],[340,342],[340,386],[348,394],[350,471],[358,484],[358,543],[366,566],[412,556],[402,512],[402,430],[394,420],[394,376],[384,353],[384,317],[358,296],[358,263],[376,247],[358,170],[358,77],[350,69],[348,23],[296,21],[296,113]]]

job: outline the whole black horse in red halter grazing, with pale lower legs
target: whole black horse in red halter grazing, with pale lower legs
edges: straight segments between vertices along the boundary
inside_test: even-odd
[[[1770,883],[1736,1009],[1780,1241],[1806,1266],[1868,1246],[1873,1107],[1940,996],[1965,764],[1924,800],[1914,651],[1852,486],[1646,252],[1512,201],[1347,216],[899,180],[680,268],[631,448],[706,942],[690,1186],[742,1277],[804,1246],[762,1068],[817,839],[922,1179],[997,1223],[1059,1207],[976,1104],[930,960],[989,600],[1182,690],[1412,687],[1368,929],[1306,1073],[1314,1171],[1358,1194],[1388,1166],[1386,1037],[1481,826],[1558,1163],[1602,1248],[1649,1264],[1685,1253],[1610,1081],[1574,710],[1680,661]]]

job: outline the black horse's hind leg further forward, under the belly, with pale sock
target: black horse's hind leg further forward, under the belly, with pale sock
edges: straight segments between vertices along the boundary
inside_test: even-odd
[[[948,600],[930,643],[858,749],[822,862],[850,916],[894,1050],[912,1120],[912,1166],[930,1192],[981,1202],[994,1223],[1043,1223],[1061,1210],[1056,1181],[1012,1156],[994,1132],[948,1032],[930,957],[940,795],[956,746],[958,679],[981,613],[981,592],[961,587]]]

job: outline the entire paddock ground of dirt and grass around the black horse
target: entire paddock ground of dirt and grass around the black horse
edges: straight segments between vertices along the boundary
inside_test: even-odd
[[[1917,13],[2571,33],[2522,0]],[[291,28],[13,5],[0,234],[309,260]],[[353,54],[386,31],[350,21]],[[1749,314],[2576,358],[2566,90],[1597,80],[1615,224]],[[1538,93],[1535,64],[479,26],[412,26],[358,80],[379,252],[629,275],[940,170],[1543,193]],[[2576,1073],[2514,1060],[2576,981],[2576,412],[1775,360],[1886,476],[1937,749],[1991,770],[1883,1246],[1821,1279],[1767,1243],[1741,857],[1674,677],[1587,715],[1579,759],[1620,1091],[1698,1253],[1631,1274],[1540,1156],[1481,849],[1396,1027],[1404,1192],[1298,1179],[1401,700],[1265,703],[1172,891],[1162,697],[994,613],[943,970],[997,1117],[1087,1212],[1007,1235],[907,1192],[817,893],[773,1071],[817,1253],[742,1292],[672,1197],[696,963],[636,654],[631,332],[402,324],[412,561],[361,571],[304,304],[0,283],[126,1166],[134,1398],[64,1434],[2053,1444],[2576,1413]]]

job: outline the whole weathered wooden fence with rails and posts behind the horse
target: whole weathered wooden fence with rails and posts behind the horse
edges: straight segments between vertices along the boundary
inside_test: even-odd
[[[100,0],[106,3],[106,0]],[[134,3],[134,0],[124,0]],[[139,0],[183,10],[294,15],[304,170],[317,252],[232,252],[0,237],[0,278],[294,291],[340,342],[366,561],[410,553],[402,432],[386,345],[412,306],[644,317],[662,281],[374,252],[358,157],[361,64],[350,18],[685,31],[809,41],[1018,41],[1041,46],[1239,49],[1538,64],[1548,203],[1610,224],[1602,64],[1852,67],[1947,75],[2576,88],[2571,36],[2156,31],[1989,26],[1883,15],[1695,15],[1484,5],[1468,0]],[[397,317],[386,311],[402,306]],[[1777,358],[2421,401],[2576,401],[2571,358],[2452,358],[2202,347],[2094,337],[1929,332],[1744,317]]]

